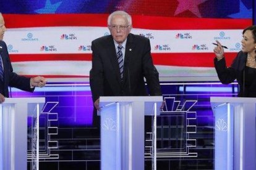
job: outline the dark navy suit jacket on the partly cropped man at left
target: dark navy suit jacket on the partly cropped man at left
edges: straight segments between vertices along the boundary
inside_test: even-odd
[[[10,57],[7,51],[7,46],[4,41],[0,40],[0,54],[4,65],[4,82],[0,80],[0,92],[5,97],[9,97],[8,86],[16,87],[23,91],[33,92],[35,88],[30,88],[30,78],[19,76],[12,70]]]

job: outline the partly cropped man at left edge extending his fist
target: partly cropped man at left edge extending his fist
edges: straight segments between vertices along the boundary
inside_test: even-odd
[[[33,92],[35,87],[43,87],[46,84],[46,79],[42,76],[26,78],[13,72],[6,43],[2,41],[5,31],[4,17],[0,13],[0,103],[4,102],[5,97],[9,97],[8,86]]]

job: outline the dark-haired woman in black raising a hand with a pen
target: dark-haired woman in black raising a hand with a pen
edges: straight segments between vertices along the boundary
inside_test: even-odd
[[[256,25],[242,31],[242,51],[238,52],[229,68],[226,67],[223,46],[216,42],[214,64],[221,83],[229,84],[237,79],[238,97],[256,97]]]

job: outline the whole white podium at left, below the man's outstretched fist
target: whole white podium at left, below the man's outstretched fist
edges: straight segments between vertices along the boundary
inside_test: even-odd
[[[0,104],[0,170],[27,170],[28,156],[32,159],[30,169],[39,169],[38,118],[44,103],[45,98],[33,97],[6,98]],[[28,123],[32,153],[27,156]]]

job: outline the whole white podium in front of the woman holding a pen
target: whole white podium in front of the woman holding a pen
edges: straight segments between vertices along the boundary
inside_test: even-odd
[[[215,169],[256,169],[256,98],[211,97]]]

